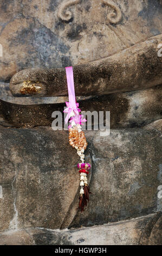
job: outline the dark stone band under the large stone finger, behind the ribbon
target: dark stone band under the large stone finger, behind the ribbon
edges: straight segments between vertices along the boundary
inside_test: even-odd
[[[82,111],[110,111],[111,128],[141,127],[162,117],[161,86],[126,93],[116,93],[93,99],[80,100]],[[53,102],[62,101],[63,97],[51,97]],[[61,99],[60,99],[61,98]],[[22,98],[11,95],[2,97],[1,116],[7,126],[51,126],[54,111],[63,111],[65,103],[42,104],[52,102],[49,98]],[[20,99],[20,102],[19,102]],[[35,100],[36,99],[36,100]],[[4,102],[4,100],[6,102]],[[64,99],[66,100],[66,99]],[[24,101],[24,102],[23,102]],[[9,103],[10,102],[10,103]],[[18,104],[13,104],[18,103]],[[20,105],[23,103],[23,106]],[[32,105],[29,105],[31,104]],[[38,105],[33,105],[37,103]],[[24,105],[27,104],[27,105]],[[4,124],[4,121],[2,122]],[[6,126],[6,125],[5,125]]]

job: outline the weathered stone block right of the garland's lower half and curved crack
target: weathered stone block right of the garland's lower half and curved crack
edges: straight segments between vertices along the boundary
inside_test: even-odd
[[[111,130],[107,137],[100,137],[100,132],[93,132],[92,136],[92,195],[86,211],[77,214],[70,227],[99,225],[160,211],[160,132],[124,129]]]

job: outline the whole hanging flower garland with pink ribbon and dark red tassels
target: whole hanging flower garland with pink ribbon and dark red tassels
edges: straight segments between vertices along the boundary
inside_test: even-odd
[[[77,154],[80,156],[81,163],[77,164],[80,173],[80,197],[79,197],[79,209],[84,211],[85,206],[87,206],[87,200],[89,201],[89,186],[87,181],[88,170],[90,169],[90,164],[85,163],[85,150],[87,148],[87,141],[85,133],[81,129],[81,125],[86,122],[79,112],[79,103],[76,102],[75,89],[74,89],[74,77],[73,77],[73,67],[66,67],[66,76],[68,84],[68,95],[69,102],[66,102],[67,108],[64,109],[64,113],[67,113],[65,118],[65,123],[69,120],[69,144],[77,150]]]

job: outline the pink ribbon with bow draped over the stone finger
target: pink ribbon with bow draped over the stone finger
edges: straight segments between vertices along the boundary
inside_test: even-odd
[[[71,114],[74,113],[79,115],[81,109],[79,107],[79,103],[75,100],[75,89],[74,89],[74,77],[73,77],[73,67],[67,66],[66,68],[66,76],[67,76],[67,84],[68,84],[68,95],[69,95],[69,102],[66,102],[67,108],[64,109],[64,113],[67,113],[65,118],[65,123],[67,124]]]

